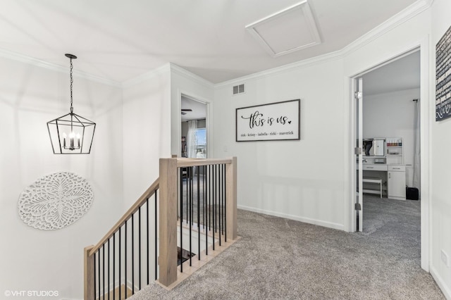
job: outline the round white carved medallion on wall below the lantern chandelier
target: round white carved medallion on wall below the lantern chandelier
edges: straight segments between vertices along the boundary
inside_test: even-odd
[[[80,219],[94,200],[87,180],[69,172],[44,176],[20,194],[19,215],[40,230],[57,230]]]

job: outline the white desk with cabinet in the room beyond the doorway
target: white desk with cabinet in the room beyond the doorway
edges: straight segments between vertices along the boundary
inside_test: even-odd
[[[359,165],[357,165],[357,170]],[[389,199],[406,199],[406,167],[405,165],[387,165],[385,163],[364,163],[363,177],[381,178],[387,183]]]

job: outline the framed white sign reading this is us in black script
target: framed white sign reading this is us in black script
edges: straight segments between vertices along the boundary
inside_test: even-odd
[[[236,108],[236,141],[301,139],[300,99]]]

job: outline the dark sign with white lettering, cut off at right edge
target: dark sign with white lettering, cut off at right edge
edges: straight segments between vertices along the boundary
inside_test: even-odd
[[[435,45],[435,121],[451,117],[451,27]]]

